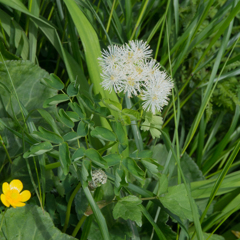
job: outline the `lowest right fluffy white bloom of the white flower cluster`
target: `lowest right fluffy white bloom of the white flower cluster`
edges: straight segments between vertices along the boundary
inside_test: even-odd
[[[173,88],[173,82],[164,71],[154,71],[142,91],[143,109],[155,114],[168,104],[168,95]]]

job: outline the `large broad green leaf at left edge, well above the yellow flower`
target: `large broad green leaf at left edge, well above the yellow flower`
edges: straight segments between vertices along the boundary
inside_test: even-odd
[[[6,66],[15,86],[18,98],[23,106],[30,112],[33,109],[41,108],[45,99],[55,96],[56,90],[49,89],[40,83],[40,79],[48,77],[48,73],[29,61],[6,61]],[[6,84],[14,96],[13,86],[10,82],[4,64],[0,63],[0,83]],[[20,113],[19,104],[15,97],[7,94],[4,88],[0,87],[0,95],[4,108],[10,116],[13,111],[16,115]],[[2,105],[0,106],[0,117],[2,117]]]

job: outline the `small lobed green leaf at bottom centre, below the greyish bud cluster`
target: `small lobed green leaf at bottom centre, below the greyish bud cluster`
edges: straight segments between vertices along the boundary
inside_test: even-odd
[[[139,206],[142,201],[133,195],[122,198],[117,202],[113,209],[114,219],[123,218],[124,220],[130,219],[135,221],[136,224],[142,226],[142,212]]]

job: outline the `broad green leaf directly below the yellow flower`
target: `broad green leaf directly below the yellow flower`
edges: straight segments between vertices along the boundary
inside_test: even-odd
[[[1,220],[2,214],[0,222]],[[76,239],[56,228],[50,215],[36,205],[8,209],[4,216],[4,222],[1,232],[7,239],[16,239],[16,237],[24,240]]]

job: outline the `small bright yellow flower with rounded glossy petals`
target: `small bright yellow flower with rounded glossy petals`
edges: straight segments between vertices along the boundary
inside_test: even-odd
[[[6,207],[9,207],[10,205],[12,205],[14,208],[25,206],[24,202],[30,199],[31,193],[28,190],[21,192],[22,189],[23,184],[18,179],[12,180],[10,184],[8,184],[7,182],[3,183],[3,194],[1,194],[2,203]]]

